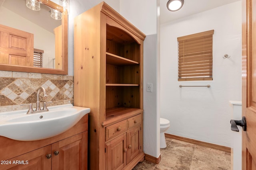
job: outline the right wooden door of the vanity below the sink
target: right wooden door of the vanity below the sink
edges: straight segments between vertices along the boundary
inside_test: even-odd
[[[52,170],[87,170],[88,131],[52,144]]]

